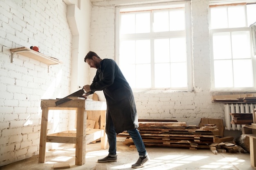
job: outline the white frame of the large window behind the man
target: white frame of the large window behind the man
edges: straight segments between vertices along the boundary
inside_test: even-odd
[[[186,38],[186,48],[187,48],[187,56],[186,56],[186,59],[187,59],[187,63],[186,63],[186,66],[187,66],[187,87],[186,88],[179,88],[179,89],[176,89],[176,88],[161,88],[161,89],[157,89],[157,88],[154,88],[152,89],[152,87],[150,89],[133,89],[133,91],[157,91],[157,92],[168,92],[168,91],[178,91],[178,92],[184,92],[184,91],[187,91],[187,92],[191,92],[193,91],[193,66],[192,66],[192,40],[191,40],[191,37],[192,37],[192,31],[191,31],[191,3],[186,1],[186,2],[165,2],[165,3],[156,3],[156,4],[141,4],[141,5],[136,5],[136,6],[133,6],[133,5],[128,5],[128,6],[118,6],[115,8],[116,10],[116,20],[115,20],[115,61],[117,62],[117,64],[119,65],[119,35],[120,35],[120,20],[121,20],[121,17],[120,17],[120,11],[129,11],[129,9],[138,9],[138,8],[144,8],[145,10],[149,10],[149,9],[159,9],[159,7],[165,7],[166,6],[175,6],[175,5],[184,5],[184,8],[185,8],[185,38]],[[136,10],[135,10],[136,11]],[[150,22],[152,24],[152,22]],[[152,26],[151,26],[152,28]],[[178,31],[177,31],[178,32]],[[154,33],[155,35],[159,34],[158,32],[155,32]],[[167,38],[166,37],[163,37],[163,38]],[[151,46],[151,51],[152,51],[152,46]],[[151,61],[152,62],[152,61]],[[152,71],[152,67],[151,67],[151,71]],[[155,81],[154,80],[155,77],[152,77],[152,81]]]

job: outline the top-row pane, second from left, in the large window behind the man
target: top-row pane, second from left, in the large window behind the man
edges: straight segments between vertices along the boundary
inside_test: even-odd
[[[150,13],[136,14],[136,33],[150,32]]]

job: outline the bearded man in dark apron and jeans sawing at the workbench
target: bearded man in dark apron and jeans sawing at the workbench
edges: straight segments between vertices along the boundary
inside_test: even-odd
[[[91,68],[96,68],[97,73],[92,84],[83,86],[83,89],[86,92],[103,90],[107,103],[106,134],[109,154],[98,162],[117,161],[116,135],[127,130],[139,152],[139,159],[132,168],[141,168],[150,158],[137,130],[139,123],[132,89],[114,60],[102,60],[96,53],[89,51],[84,61]]]

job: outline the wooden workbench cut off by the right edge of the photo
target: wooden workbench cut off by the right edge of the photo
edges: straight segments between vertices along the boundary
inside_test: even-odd
[[[256,169],[256,109],[253,112],[254,123],[252,125],[245,125],[242,127],[242,132],[249,137],[250,140],[250,160],[251,166]]]

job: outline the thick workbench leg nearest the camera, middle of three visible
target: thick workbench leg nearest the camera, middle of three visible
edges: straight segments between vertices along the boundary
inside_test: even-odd
[[[85,108],[77,108],[76,119],[76,165],[85,163],[86,146],[86,111]]]

